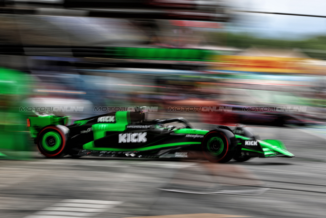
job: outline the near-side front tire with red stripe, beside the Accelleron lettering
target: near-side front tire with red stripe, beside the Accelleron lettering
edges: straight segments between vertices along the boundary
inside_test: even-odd
[[[235,154],[236,139],[230,131],[214,130],[205,135],[201,146],[207,160],[226,163]]]

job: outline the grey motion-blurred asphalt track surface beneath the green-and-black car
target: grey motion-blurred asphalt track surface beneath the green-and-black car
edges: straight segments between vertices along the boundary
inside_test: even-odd
[[[296,157],[210,164],[45,159],[35,152],[32,160],[1,160],[0,217],[325,217],[326,137],[322,130],[253,129],[262,139],[284,141]],[[178,187],[185,190],[166,191]]]

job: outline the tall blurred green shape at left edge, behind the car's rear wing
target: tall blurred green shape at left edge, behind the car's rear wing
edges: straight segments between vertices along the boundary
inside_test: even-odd
[[[26,114],[19,111],[30,93],[30,77],[17,70],[0,68],[0,159],[28,159]]]

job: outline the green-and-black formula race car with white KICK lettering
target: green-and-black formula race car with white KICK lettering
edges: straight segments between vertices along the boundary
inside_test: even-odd
[[[147,120],[148,111],[117,111],[74,121],[48,113],[28,117],[39,151],[48,158],[102,157],[207,159],[294,157],[281,141],[257,140],[245,127],[193,129],[185,118]],[[182,127],[171,125],[182,124]],[[169,124],[169,125],[167,125]]]

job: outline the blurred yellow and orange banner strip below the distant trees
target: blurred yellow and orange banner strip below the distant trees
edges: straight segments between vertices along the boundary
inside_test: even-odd
[[[266,73],[312,73],[319,74],[317,66],[311,64],[311,58],[214,55],[214,70],[232,70]]]

